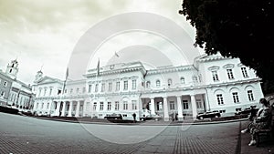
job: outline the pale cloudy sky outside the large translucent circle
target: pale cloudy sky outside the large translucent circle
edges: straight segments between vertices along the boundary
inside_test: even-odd
[[[17,57],[18,78],[24,82],[32,83],[43,64],[45,75],[64,78],[69,56],[79,37],[111,15],[126,12],[151,12],[172,18],[185,26],[194,38],[192,27],[185,24],[184,16],[177,14],[181,3],[166,0],[0,0],[0,68],[5,70],[7,63]]]

